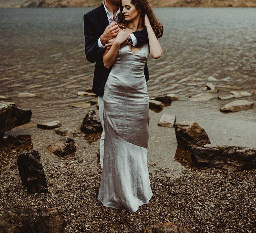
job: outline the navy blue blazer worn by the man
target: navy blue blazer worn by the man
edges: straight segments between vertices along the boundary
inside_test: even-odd
[[[84,15],[85,55],[89,62],[95,63],[92,91],[97,96],[103,96],[105,83],[111,71],[111,67],[107,69],[103,64],[102,58],[105,49],[98,47],[98,39],[108,25],[109,21],[103,3]],[[138,41],[136,47],[148,43],[146,29],[134,32],[133,34]],[[147,64],[144,68],[144,75],[147,82],[149,80]]]

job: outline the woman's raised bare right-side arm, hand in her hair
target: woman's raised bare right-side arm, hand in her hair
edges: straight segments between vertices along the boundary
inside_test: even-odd
[[[150,21],[148,19],[148,16],[145,15],[145,27],[148,32],[148,42],[149,42],[149,49],[150,49],[150,55],[154,59],[158,59],[161,57],[163,51],[159,44],[158,39],[156,38],[156,35],[151,27]]]

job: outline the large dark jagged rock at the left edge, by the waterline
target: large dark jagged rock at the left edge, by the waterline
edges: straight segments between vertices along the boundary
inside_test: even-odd
[[[30,122],[32,112],[8,104],[0,104],[0,135],[16,126]]]

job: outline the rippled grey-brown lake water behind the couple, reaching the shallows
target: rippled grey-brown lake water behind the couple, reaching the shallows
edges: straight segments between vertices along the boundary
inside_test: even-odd
[[[78,97],[77,92],[92,85],[94,64],[85,58],[83,35],[83,15],[91,9],[0,9],[0,95],[9,97],[7,101],[15,102],[17,107],[31,109],[32,123],[58,119],[63,126],[79,130],[88,110],[72,108],[70,104],[90,99]],[[180,114],[180,120],[201,123],[214,142],[228,142],[240,130],[233,143],[256,144],[255,107],[224,115],[218,109],[231,100],[187,101],[188,96],[202,92],[210,76],[218,80],[214,84],[222,94],[237,89],[256,91],[256,9],[155,8],[154,11],[164,25],[164,35],[159,40],[164,53],[158,60],[148,60],[149,96],[177,94],[180,99],[172,104],[177,111],[173,112],[172,106],[166,111]],[[37,97],[21,99],[17,97],[20,92],[31,92]],[[255,95],[245,99],[255,101]],[[174,129],[160,129],[156,123],[161,113],[150,114],[151,122],[156,122],[150,126],[149,160],[161,158],[162,165],[170,164],[176,149]],[[212,117],[210,122],[206,122],[207,117]],[[223,127],[228,125],[227,138],[218,129],[220,122]],[[233,128],[234,124],[238,128]],[[33,135],[37,148],[45,148],[60,137],[36,127],[26,130]],[[24,130],[16,133],[21,132]],[[162,135],[166,136],[161,138]],[[241,135],[243,139],[239,139]],[[80,142],[79,153],[89,160],[95,159],[98,142],[87,144],[82,139]]]

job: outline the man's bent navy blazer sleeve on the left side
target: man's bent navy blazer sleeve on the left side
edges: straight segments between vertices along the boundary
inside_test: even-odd
[[[93,24],[86,14],[84,15],[84,37],[86,59],[91,63],[102,60],[104,49],[98,46],[99,38],[97,38],[97,33],[94,31]]]

